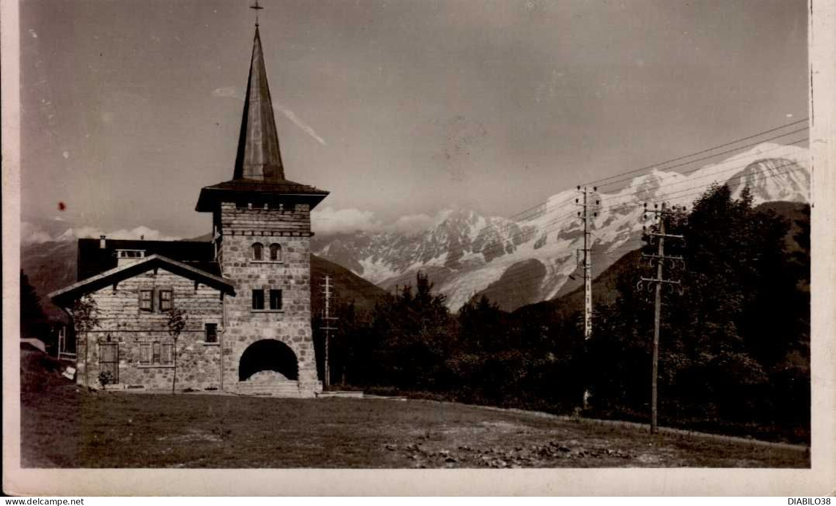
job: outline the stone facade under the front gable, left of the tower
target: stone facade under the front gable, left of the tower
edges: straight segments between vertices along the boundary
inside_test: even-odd
[[[168,315],[140,310],[140,289],[171,289],[173,307],[186,311],[187,324],[177,340],[177,388],[221,388],[220,345],[205,342],[204,324],[217,324],[223,339],[221,291],[196,283],[164,268],[150,268],[118,284],[90,294],[99,309],[99,325],[79,335],[76,381],[99,387],[100,353],[103,345],[117,344],[119,384],[147,389],[170,389],[174,376],[171,363],[153,363],[153,348],[161,350],[174,340],[168,333]],[[88,347],[89,342],[89,347]],[[149,346],[152,362],[142,363],[140,347]],[[173,359],[173,355],[172,359]],[[163,358],[163,357],[161,357]],[[162,361],[162,360],[161,360]]]

